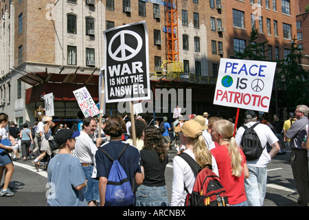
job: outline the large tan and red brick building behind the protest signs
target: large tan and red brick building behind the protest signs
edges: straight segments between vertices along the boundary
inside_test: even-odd
[[[174,0],[178,13],[176,47],[183,74],[189,78],[182,80],[179,74],[166,77],[167,68],[161,69],[161,64],[167,59],[167,2],[2,0],[1,111],[18,124],[32,124],[34,110],[44,105],[41,95],[53,92],[54,118],[76,119],[79,107],[73,90],[87,85],[98,102],[98,74],[104,66],[103,31],[146,21],[152,89],[192,89],[192,113],[208,111],[229,117],[233,111],[212,104],[220,58],[233,58],[235,50],[241,51],[253,25],[260,29],[259,41],[268,40],[272,60],[283,58],[297,34],[295,0]],[[117,104],[106,108],[115,112]]]

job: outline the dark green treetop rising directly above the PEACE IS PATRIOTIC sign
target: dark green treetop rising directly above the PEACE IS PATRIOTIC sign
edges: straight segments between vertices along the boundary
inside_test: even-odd
[[[265,52],[267,51],[267,47],[265,50],[264,45],[268,41],[257,43],[256,40],[258,38],[258,29],[253,29],[249,36],[247,46],[244,48],[244,52],[235,52],[235,55],[242,60],[265,61]]]

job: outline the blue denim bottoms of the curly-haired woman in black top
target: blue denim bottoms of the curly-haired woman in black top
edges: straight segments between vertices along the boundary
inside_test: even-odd
[[[170,206],[166,186],[139,186],[136,192],[136,206]]]

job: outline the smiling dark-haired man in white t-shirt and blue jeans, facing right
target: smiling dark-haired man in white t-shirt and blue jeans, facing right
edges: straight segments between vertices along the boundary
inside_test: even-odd
[[[93,174],[93,157],[102,143],[102,137],[98,137],[95,143],[91,138],[91,135],[94,134],[97,128],[97,122],[94,118],[85,118],[82,127],[83,129],[80,131],[80,135],[76,137],[76,146],[73,155],[80,159],[82,170],[84,170],[84,175],[87,179],[87,191],[84,192],[84,197],[88,202],[88,206],[96,206],[96,201],[99,199],[99,181],[92,179],[91,176]]]

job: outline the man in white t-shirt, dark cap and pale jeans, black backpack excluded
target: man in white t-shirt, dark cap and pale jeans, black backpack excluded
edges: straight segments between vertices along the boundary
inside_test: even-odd
[[[254,111],[248,110],[244,113],[245,126],[253,126],[257,122],[257,116]],[[248,161],[249,178],[244,179],[244,188],[247,194],[249,206],[263,206],[266,195],[267,181],[267,164],[280,150],[278,138],[266,124],[258,124],[254,131],[258,134],[264,151],[259,159]],[[241,146],[242,135],[244,128],[241,126],[236,133],[236,142]],[[271,145],[271,151],[267,153],[266,144]]]

